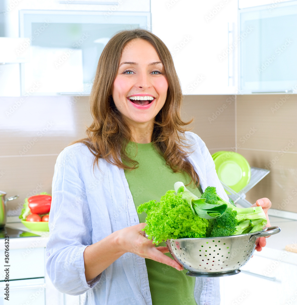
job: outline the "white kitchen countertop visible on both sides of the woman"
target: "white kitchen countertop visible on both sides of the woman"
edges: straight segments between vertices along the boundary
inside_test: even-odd
[[[278,226],[281,228],[281,231],[267,238],[266,246],[260,252],[255,251],[254,255],[297,265],[297,253],[285,250],[286,245],[297,244],[297,221],[275,216],[270,216],[269,219],[271,226]],[[9,239],[10,249],[46,246],[49,232],[31,231],[21,222],[8,223],[7,226],[41,235],[36,237],[11,238]],[[3,243],[0,242],[0,250],[4,249],[4,239],[2,240]]]

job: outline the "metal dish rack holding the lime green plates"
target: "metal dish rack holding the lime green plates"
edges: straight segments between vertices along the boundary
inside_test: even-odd
[[[259,167],[251,167],[251,179],[249,183],[242,188],[239,192],[235,192],[232,188],[226,185],[224,182],[220,181],[227,192],[227,195],[234,203],[240,204],[242,207],[249,207],[252,205],[248,200],[245,199],[245,194],[253,188],[259,181],[261,181],[267,174],[270,173],[270,170]]]

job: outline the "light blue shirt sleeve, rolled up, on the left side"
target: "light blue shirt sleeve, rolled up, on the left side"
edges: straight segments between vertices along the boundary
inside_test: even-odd
[[[56,289],[70,295],[86,292],[101,278],[99,274],[87,282],[84,274],[84,249],[92,243],[92,224],[76,154],[66,148],[55,164],[46,245],[48,276]]]

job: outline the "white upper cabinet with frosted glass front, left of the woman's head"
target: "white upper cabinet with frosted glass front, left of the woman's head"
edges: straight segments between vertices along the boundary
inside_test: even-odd
[[[0,96],[89,95],[110,37],[151,26],[149,0],[15,2],[5,0],[2,32],[27,39],[16,52],[30,48],[30,62],[0,66]]]

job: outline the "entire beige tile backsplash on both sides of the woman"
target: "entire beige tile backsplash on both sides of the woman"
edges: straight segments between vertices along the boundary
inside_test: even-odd
[[[247,193],[250,202],[268,197],[273,208],[297,212],[297,96],[288,96],[187,95],[183,117],[194,118],[192,131],[211,153],[237,150],[251,166],[270,169]],[[51,193],[59,152],[91,123],[88,97],[19,100],[0,98],[0,190],[20,195],[7,203],[9,215],[27,196]]]

